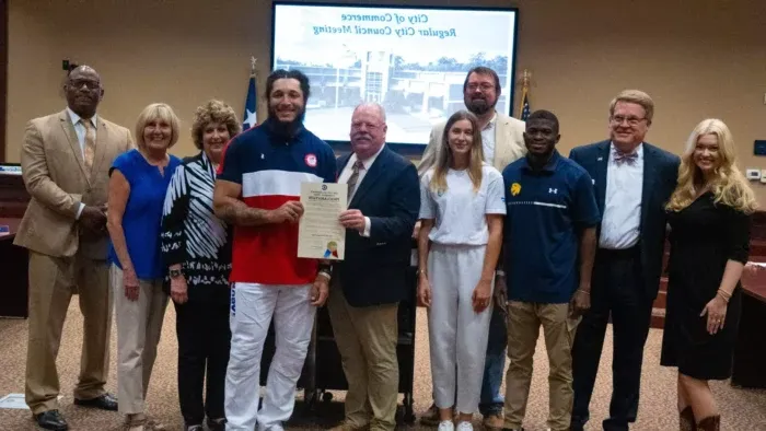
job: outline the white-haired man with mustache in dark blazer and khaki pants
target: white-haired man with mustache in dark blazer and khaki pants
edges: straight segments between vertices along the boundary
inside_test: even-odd
[[[345,260],[336,263],[328,311],[349,387],[336,430],[393,430],[398,394],[397,310],[407,295],[411,233],[420,210],[415,165],[385,147],[385,112],[362,104],[351,117]]]

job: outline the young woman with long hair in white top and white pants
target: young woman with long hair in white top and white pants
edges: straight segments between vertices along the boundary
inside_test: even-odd
[[[481,389],[506,202],[502,175],[483,162],[481,130],[473,114],[452,115],[442,144],[420,183],[418,300],[429,307],[439,431],[454,430],[455,413],[457,430],[469,431]]]

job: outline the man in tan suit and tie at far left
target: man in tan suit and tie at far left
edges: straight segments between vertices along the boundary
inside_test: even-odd
[[[26,404],[38,427],[68,430],[58,411],[56,356],[72,293],[84,316],[74,404],[117,410],[106,393],[112,293],[106,252],[106,195],[114,159],[132,148],[130,132],[96,116],[104,90],[81,66],[63,85],[68,107],[31,120],[21,165],[32,196],[14,244],[30,251]]]

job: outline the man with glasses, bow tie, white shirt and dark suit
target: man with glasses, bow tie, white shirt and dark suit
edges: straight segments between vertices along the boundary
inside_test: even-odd
[[[662,271],[664,206],[675,188],[677,156],[643,141],[654,103],[638,90],[610,105],[611,139],[573,149],[569,158],[593,177],[602,221],[593,265],[591,310],[574,347],[572,430],[582,430],[612,315],[613,392],[604,430],[628,430],[636,421],[643,345]]]

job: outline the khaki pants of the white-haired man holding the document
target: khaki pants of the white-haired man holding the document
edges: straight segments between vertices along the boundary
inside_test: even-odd
[[[337,283],[327,311],[348,382],[346,423],[371,431],[396,427],[398,304],[353,307]]]

